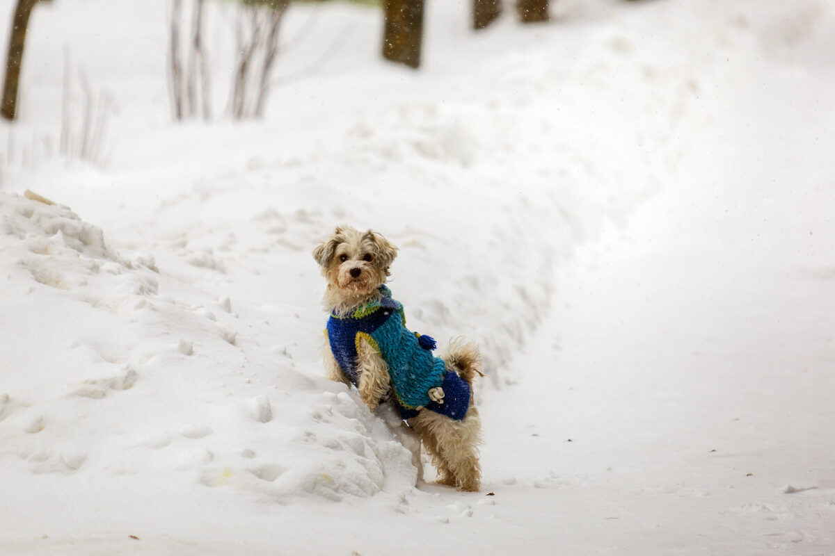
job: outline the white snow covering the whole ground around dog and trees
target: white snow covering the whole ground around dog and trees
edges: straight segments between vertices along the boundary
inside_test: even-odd
[[[33,13],[0,553],[835,553],[829,3],[564,0],[478,34],[429,3],[417,73],[375,10],[295,5],[266,118],[182,124],[167,12]],[[116,106],[104,165],[55,153],[64,48]],[[338,223],[401,248],[411,328],[482,346],[482,492],[416,485],[391,415],[324,378]]]

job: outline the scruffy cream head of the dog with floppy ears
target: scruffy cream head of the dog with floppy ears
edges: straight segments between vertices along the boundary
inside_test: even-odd
[[[327,308],[356,307],[376,295],[395,257],[397,248],[381,234],[337,227],[313,249],[313,258],[327,280]]]

